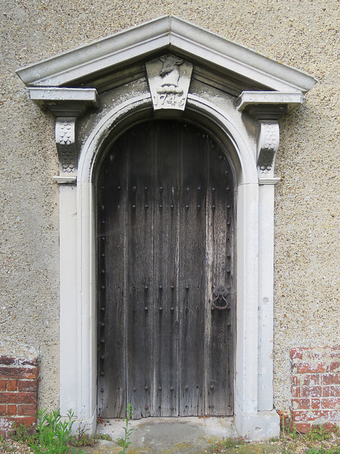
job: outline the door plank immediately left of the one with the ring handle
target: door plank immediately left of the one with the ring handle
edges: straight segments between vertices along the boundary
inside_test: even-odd
[[[204,414],[205,134],[181,127],[180,416]]]

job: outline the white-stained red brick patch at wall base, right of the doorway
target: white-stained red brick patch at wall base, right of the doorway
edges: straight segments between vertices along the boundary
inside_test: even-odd
[[[293,426],[340,423],[340,347],[291,348]]]

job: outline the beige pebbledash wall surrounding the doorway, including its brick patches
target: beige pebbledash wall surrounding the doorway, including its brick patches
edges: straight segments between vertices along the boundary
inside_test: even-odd
[[[37,364],[39,405],[53,409],[59,403],[55,120],[30,101],[15,70],[164,14],[176,14],[319,81],[305,104],[280,121],[274,403],[301,430],[312,421],[339,423],[339,9],[337,0],[2,1],[2,428],[33,409]],[[25,367],[35,367],[34,377],[27,377]],[[36,380],[29,391],[27,380]]]

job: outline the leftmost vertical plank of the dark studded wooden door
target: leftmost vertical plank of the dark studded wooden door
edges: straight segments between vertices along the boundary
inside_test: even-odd
[[[125,414],[125,224],[124,140],[104,160],[98,178],[98,409]]]

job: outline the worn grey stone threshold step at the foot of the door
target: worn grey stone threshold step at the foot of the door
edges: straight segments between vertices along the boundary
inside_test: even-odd
[[[123,419],[104,419],[97,433],[116,442],[125,436]],[[131,421],[130,448],[138,453],[200,453],[222,438],[236,438],[233,416],[142,418]]]

